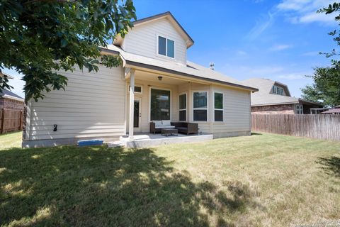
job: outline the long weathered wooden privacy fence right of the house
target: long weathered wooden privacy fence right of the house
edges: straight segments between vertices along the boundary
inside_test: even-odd
[[[340,115],[251,114],[251,131],[340,140]]]

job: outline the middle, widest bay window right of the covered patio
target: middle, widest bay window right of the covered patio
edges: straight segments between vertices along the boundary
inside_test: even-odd
[[[208,121],[208,92],[193,92],[193,121]]]

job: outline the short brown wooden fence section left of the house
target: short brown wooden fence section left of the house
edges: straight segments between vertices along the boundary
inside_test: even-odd
[[[23,130],[23,111],[14,109],[0,110],[0,134]]]

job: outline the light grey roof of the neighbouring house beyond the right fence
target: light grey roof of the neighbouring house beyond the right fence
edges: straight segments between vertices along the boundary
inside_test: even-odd
[[[308,104],[314,104],[322,106],[321,104],[314,103],[312,101],[307,101],[305,99],[295,98],[290,96],[288,86],[280,82],[273,81],[271,79],[261,79],[261,78],[251,78],[243,81],[249,86],[254,86],[259,88],[259,92],[251,94],[251,106],[268,106],[277,104],[299,104],[300,102],[305,102]],[[278,85],[285,89],[285,94],[288,96],[283,96],[279,94],[271,94],[273,85]]]

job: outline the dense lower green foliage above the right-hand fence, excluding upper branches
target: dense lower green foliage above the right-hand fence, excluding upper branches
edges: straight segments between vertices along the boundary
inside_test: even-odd
[[[312,76],[314,84],[302,89],[302,98],[310,101],[322,100],[324,106],[340,105],[339,62],[332,61],[331,67],[319,67]]]

